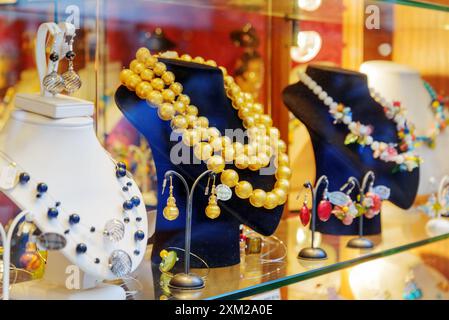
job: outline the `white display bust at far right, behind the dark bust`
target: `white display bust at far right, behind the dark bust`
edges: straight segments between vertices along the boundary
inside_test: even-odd
[[[407,118],[415,125],[417,135],[428,133],[434,114],[430,108],[431,97],[418,71],[390,61],[367,61],[361,65],[360,71],[367,74],[369,86],[382,97],[388,101],[400,101],[406,107]],[[418,194],[434,192],[430,178],[439,179],[449,173],[448,145],[449,135],[444,131],[437,137],[435,149],[422,146],[416,150],[424,161],[420,166]]]

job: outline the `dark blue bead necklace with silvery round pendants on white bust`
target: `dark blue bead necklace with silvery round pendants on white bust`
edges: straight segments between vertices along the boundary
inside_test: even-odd
[[[128,172],[126,170],[126,165],[123,162],[115,162],[113,160],[116,167],[116,177],[120,185],[121,194],[124,197],[125,201],[123,202],[123,211],[124,218],[123,222],[118,219],[111,219],[106,222],[104,228],[100,231],[99,228],[95,226],[89,226],[82,223],[81,217],[74,212],[68,213],[66,209],[63,208],[62,203],[56,200],[55,197],[51,196],[48,192],[49,187],[44,182],[37,182],[31,178],[30,174],[24,170],[18,163],[10,156],[8,156],[3,151],[0,151],[0,157],[3,158],[10,168],[13,168],[16,172],[13,177],[14,183],[12,188],[8,190],[14,189],[16,187],[20,188],[28,188],[30,192],[36,193],[36,201],[44,201],[42,207],[48,208],[46,209],[46,218],[52,221],[55,221],[58,225],[59,230],[61,230],[60,234],[64,234],[64,237],[69,237],[73,240],[74,243],[77,243],[75,247],[75,253],[77,255],[87,255],[89,259],[96,265],[101,263],[101,259],[99,257],[92,257],[89,255],[87,250],[87,245],[84,242],[78,242],[71,236],[71,230],[74,228],[82,227],[86,230],[87,233],[98,233],[101,232],[106,239],[111,242],[119,242],[123,239],[125,235],[125,225],[130,222],[130,212],[134,213],[136,225],[138,227],[139,223],[142,221],[142,217],[138,215],[137,207],[141,204],[140,198],[137,196],[131,196],[130,189],[133,187],[130,179],[124,181],[125,177],[128,177]],[[35,189],[31,186],[35,186]],[[32,212],[34,215],[34,213]],[[61,220],[61,216],[66,220],[63,222]],[[59,218],[59,219],[58,219]],[[138,229],[134,233],[134,239],[136,242],[136,249],[134,250],[134,255],[140,255],[141,251],[139,242],[141,242],[145,238],[145,233]],[[144,251],[144,250],[143,250]],[[106,260],[106,259],[105,259]],[[108,267],[112,271],[112,273],[118,277],[126,276],[131,271],[132,261],[129,255],[123,250],[114,250],[110,257],[107,259]]]

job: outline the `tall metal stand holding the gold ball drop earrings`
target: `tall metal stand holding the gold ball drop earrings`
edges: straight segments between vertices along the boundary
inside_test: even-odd
[[[192,203],[193,203],[193,194],[195,192],[196,186],[198,185],[198,182],[201,180],[201,178],[210,173],[212,173],[212,170],[207,170],[202,174],[200,174],[199,177],[193,183],[190,191],[187,181],[178,172],[174,170],[169,170],[165,173],[164,176],[164,185],[162,187],[163,188],[162,193],[164,193],[165,181],[167,181],[167,178],[169,178],[171,175],[174,175],[182,181],[187,194],[184,272],[177,273],[173,276],[173,278],[171,278],[168,287],[173,290],[200,290],[204,288],[204,280],[200,276],[190,272],[190,245],[192,240]]]

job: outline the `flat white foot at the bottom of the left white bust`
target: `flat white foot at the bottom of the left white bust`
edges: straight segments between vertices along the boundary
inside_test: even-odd
[[[100,283],[90,289],[67,289],[44,279],[11,285],[13,300],[126,300],[125,290],[117,285]]]

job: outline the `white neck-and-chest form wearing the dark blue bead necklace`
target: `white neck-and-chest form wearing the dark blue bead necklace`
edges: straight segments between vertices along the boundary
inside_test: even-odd
[[[140,222],[130,215],[125,236],[118,243],[107,241],[101,231],[107,221],[123,222],[125,199],[111,161],[95,135],[91,117],[51,119],[42,115],[17,110],[0,133],[0,150],[24,168],[34,181],[45,182],[48,193],[61,202],[61,208],[77,213],[80,225],[70,228],[65,257],[84,272],[99,279],[116,278],[108,267],[112,251],[124,250],[132,259],[133,270],[139,265],[145,252],[146,238],[137,243],[134,232],[148,230],[145,206],[136,210]],[[7,162],[2,159],[2,167]],[[34,187],[33,187],[34,188]],[[34,189],[35,190],[35,189]],[[47,217],[48,207],[36,199],[29,188],[16,187],[5,191],[22,209],[34,215],[34,222],[42,232],[63,233],[61,225],[69,229],[68,216],[58,216],[58,224]],[[142,199],[133,183],[130,194]],[[90,226],[100,232],[90,233]],[[86,254],[77,255],[77,243],[87,245]],[[139,255],[134,250],[140,250]],[[100,263],[95,264],[94,259]]]

